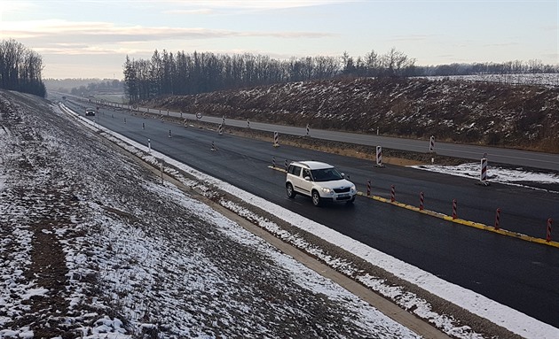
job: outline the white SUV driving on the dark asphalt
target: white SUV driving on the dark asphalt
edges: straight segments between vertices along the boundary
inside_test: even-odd
[[[319,206],[323,201],[352,204],[357,189],[334,166],[318,161],[295,161],[287,169],[286,192],[290,198],[297,194],[311,196],[312,204]]]

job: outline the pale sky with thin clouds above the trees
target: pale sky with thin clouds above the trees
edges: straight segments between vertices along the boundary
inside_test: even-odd
[[[416,65],[559,64],[559,0],[0,0],[0,38],[43,56],[46,78],[122,79],[154,50],[272,58],[396,48]]]

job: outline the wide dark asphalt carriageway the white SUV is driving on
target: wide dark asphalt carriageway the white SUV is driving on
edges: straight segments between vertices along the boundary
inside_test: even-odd
[[[75,111],[81,113],[83,108]],[[413,205],[419,203],[419,192],[423,191],[425,208],[445,214],[452,213],[452,201],[457,199],[461,219],[487,225],[493,225],[495,210],[500,208],[501,227],[540,238],[546,236],[547,218],[559,220],[557,194],[500,184],[485,187],[466,178],[402,166],[376,168],[358,158],[285,145],[273,148],[272,143],[228,135],[226,130],[218,135],[217,131],[104,108],[94,119],[138,143],[151,139],[154,150],[188,166],[559,327],[559,249],[453,224],[365,197],[358,197],[353,206],[329,204],[316,208],[303,196],[288,199],[285,174],[268,166],[272,157],[279,165],[285,159],[326,161],[350,175],[358,190],[365,191],[366,181],[371,180],[373,195],[390,197],[390,186],[394,185],[396,200]],[[217,151],[210,150],[212,142]]]

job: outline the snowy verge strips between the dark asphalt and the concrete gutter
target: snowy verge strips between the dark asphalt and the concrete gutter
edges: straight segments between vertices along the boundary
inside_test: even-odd
[[[478,295],[468,289],[461,289],[460,287],[443,281],[432,274],[421,271],[417,267],[410,266],[397,258],[392,258],[378,250],[374,250],[364,245],[363,243],[358,243],[357,241],[350,239],[345,235],[341,235],[328,227],[324,227],[312,220],[295,215],[293,212],[287,211],[275,204],[271,204],[258,196],[251,195],[248,192],[233,187],[226,182],[219,181],[205,173],[196,171],[193,168],[186,166],[185,164],[181,164],[172,158],[168,158],[157,151],[151,150],[151,154],[147,154],[148,150],[145,145],[130,141],[127,138],[122,137],[122,135],[116,135],[105,128],[101,129],[109,139],[113,140],[115,143],[121,144],[123,148],[130,150],[138,155],[138,157],[144,158],[146,161],[156,164],[158,162],[157,159],[162,159],[166,164],[169,164],[170,166],[173,166],[194,177],[196,181],[204,182],[205,185],[209,185],[210,187],[219,187],[232,196],[239,197],[248,204],[259,206],[261,209],[272,213],[280,220],[285,220],[295,227],[300,227],[306,232],[325,239],[329,243],[333,243],[345,250],[349,250],[351,253],[358,255],[358,257],[365,259],[375,266],[380,266],[382,269],[390,272],[391,274],[397,275],[404,281],[409,281],[421,287],[421,289],[425,289],[438,297],[443,297],[445,300],[461,306],[469,312],[473,312],[480,317],[491,320],[493,323],[498,324],[501,327],[506,327],[517,335],[521,335],[526,338],[559,337],[559,329],[555,327],[542,323],[539,320],[532,319],[521,312],[517,312],[508,306],[496,303],[491,299]],[[173,174],[177,175],[176,172]],[[212,191],[211,188],[207,190],[210,192]],[[257,220],[260,227],[266,228],[268,231],[278,235],[281,239],[287,241],[288,243],[292,243],[298,248],[306,250],[307,252],[321,258],[323,261],[327,262],[328,265],[334,267],[338,271],[354,276],[358,281],[361,281],[367,287],[374,289],[384,297],[390,298],[404,309],[414,312],[422,319],[429,320],[431,323],[437,324],[437,327],[442,328],[447,334],[458,338],[483,337],[483,335],[472,331],[472,329],[468,326],[464,326],[463,324],[457,326],[456,320],[453,319],[452,315],[437,314],[437,312],[433,312],[429,306],[429,302],[421,297],[415,296],[413,293],[404,292],[398,287],[385,284],[383,281],[368,274],[359,274],[357,268],[353,267],[351,263],[340,260],[339,258],[329,257],[327,254],[322,253],[321,249],[314,247],[310,243],[306,243],[303,239],[298,238],[296,235],[288,234],[285,230],[281,229],[269,220],[259,220],[257,215],[251,214],[251,212],[244,210],[237,204],[233,204],[230,201],[223,201],[222,204],[232,209],[232,211],[236,211],[241,215],[244,215],[250,220]]]

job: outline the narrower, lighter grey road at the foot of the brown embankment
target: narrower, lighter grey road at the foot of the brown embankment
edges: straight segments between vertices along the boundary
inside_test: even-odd
[[[130,108],[130,106],[126,107]],[[138,107],[137,109],[140,112],[158,113],[163,116],[170,115],[191,120],[197,119],[195,114],[193,113],[154,110],[142,107]],[[219,124],[222,123],[223,117],[203,116],[200,120],[204,122]],[[225,124],[234,127],[248,127],[247,120],[229,119],[227,117],[225,117]],[[271,133],[273,131],[277,131],[279,134],[287,135],[306,135],[307,133],[306,127],[281,126],[255,121],[250,121],[250,127],[254,129],[270,131]],[[320,130],[315,128],[311,128],[310,135],[314,138],[332,140],[342,143],[357,143],[367,146],[380,145],[384,148],[396,150],[429,152],[429,140],[403,139],[374,134],[355,134],[339,131]],[[435,137],[437,137],[437,135],[435,135]],[[437,140],[435,143],[435,152],[438,155],[442,156],[467,158],[476,161],[479,161],[484,154],[487,154],[489,161],[492,163],[559,171],[559,154],[503,149],[497,147],[486,147],[461,143],[443,143]]]

